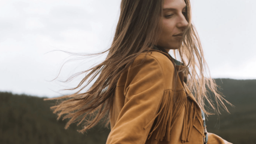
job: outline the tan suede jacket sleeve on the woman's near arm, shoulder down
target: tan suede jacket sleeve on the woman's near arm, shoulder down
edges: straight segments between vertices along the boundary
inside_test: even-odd
[[[150,55],[141,54],[128,69],[124,87],[125,104],[106,144],[144,144],[164,92],[163,71]]]

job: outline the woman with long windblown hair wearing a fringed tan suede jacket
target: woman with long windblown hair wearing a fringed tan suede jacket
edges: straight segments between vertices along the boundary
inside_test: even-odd
[[[205,101],[216,112],[219,105],[227,108],[206,78],[190,13],[189,0],[122,0],[106,60],[83,72],[88,74],[74,88],[78,92],[54,98],[65,99],[52,107],[58,119],[71,118],[65,128],[78,122],[83,133],[105,119],[111,125],[107,144],[227,144],[205,128]],[[216,109],[208,91],[215,94]]]

